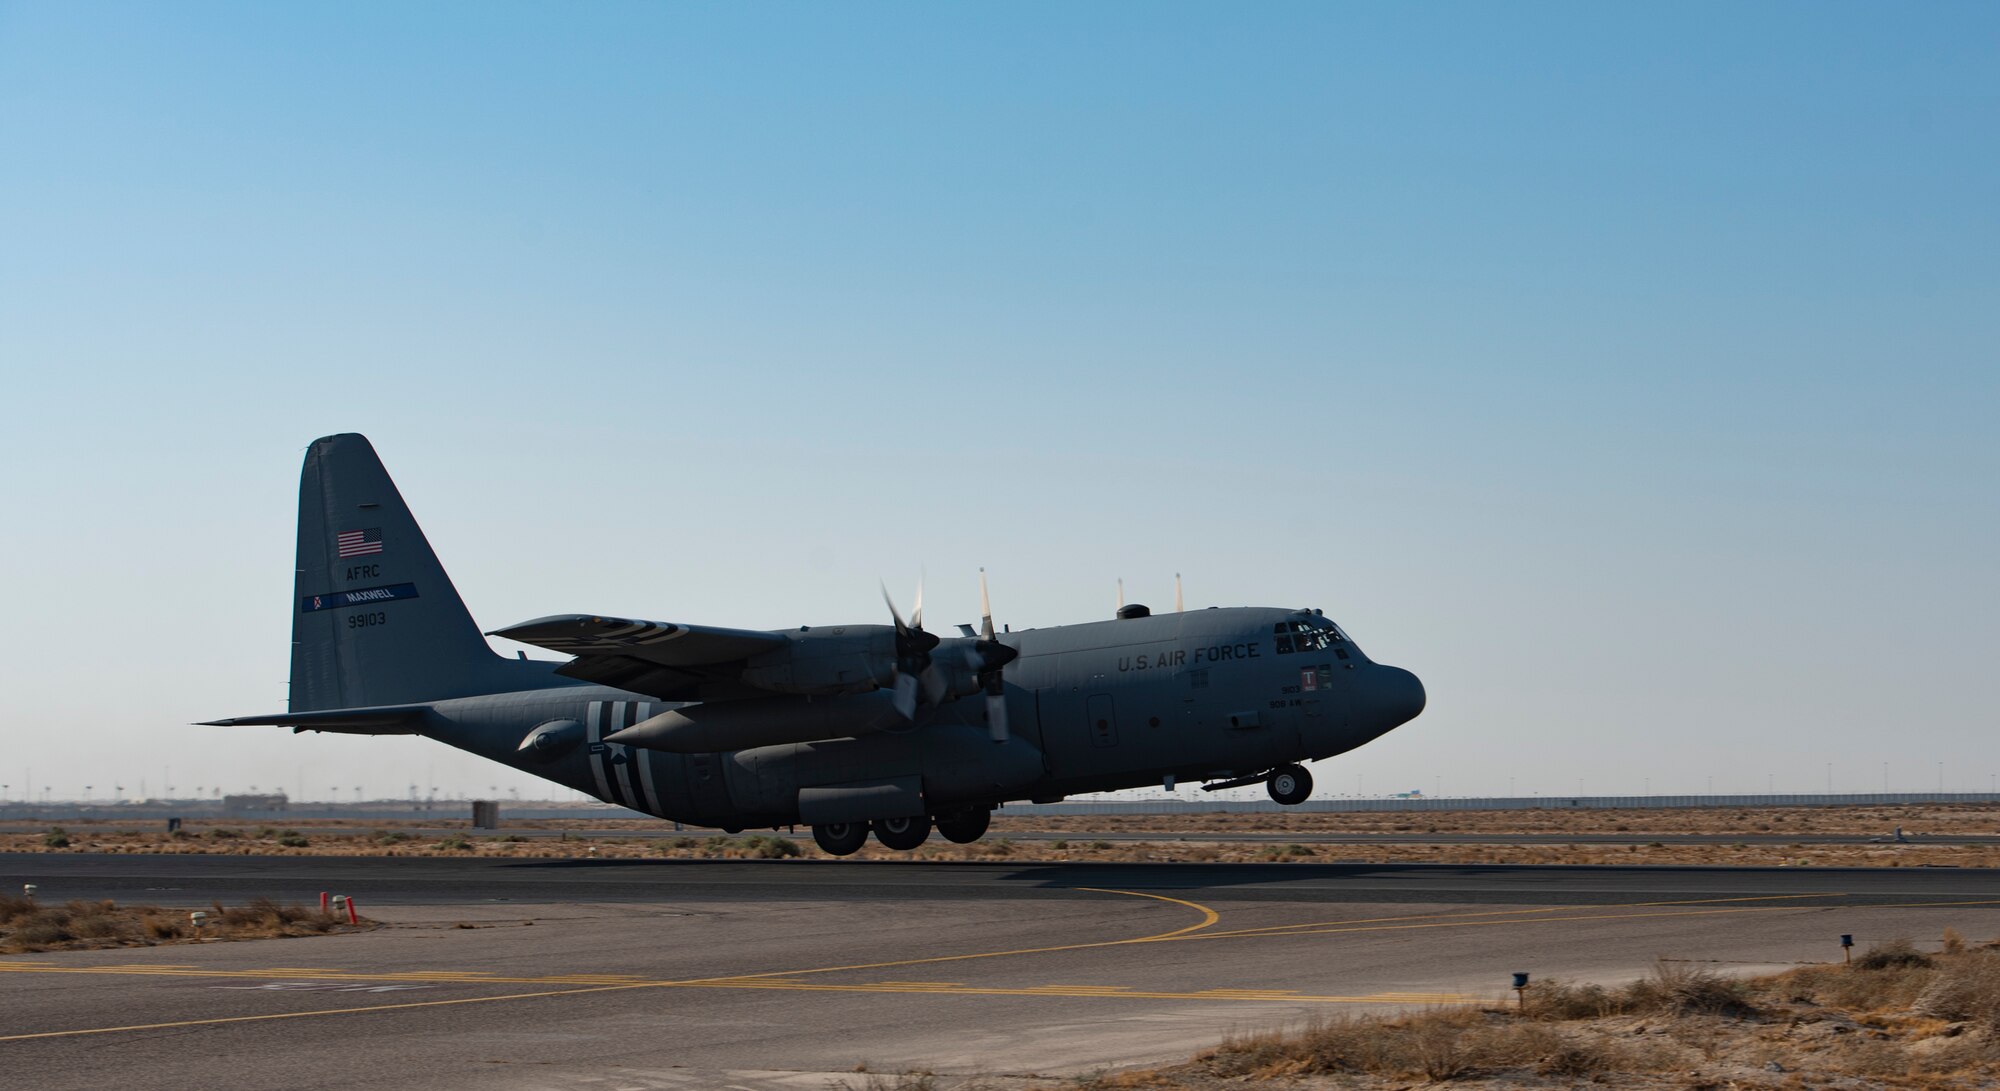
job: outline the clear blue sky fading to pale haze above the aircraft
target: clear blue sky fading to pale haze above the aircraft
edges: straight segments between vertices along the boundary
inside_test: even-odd
[[[488,627],[1320,605],[1322,791],[2000,773],[1984,4],[0,4],[56,795],[530,781],[282,707],[298,458]]]

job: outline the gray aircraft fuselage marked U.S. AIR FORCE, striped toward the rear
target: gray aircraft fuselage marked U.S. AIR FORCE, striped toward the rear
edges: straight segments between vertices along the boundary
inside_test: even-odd
[[[958,699],[860,737],[666,753],[602,739],[684,705],[602,685],[436,701],[420,733],[636,811],[746,829],[1254,775],[1344,753],[1424,707],[1416,675],[1374,663],[1312,611],[1200,609],[1000,641],[1020,653],[1004,675],[1004,743],[978,699]],[[520,749],[548,725],[574,745]]]

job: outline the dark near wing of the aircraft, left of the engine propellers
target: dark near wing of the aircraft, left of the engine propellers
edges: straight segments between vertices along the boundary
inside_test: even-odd
[[[556,667],[564,677],[668,701],[696,699],[704,683],[734,681],[746,659],[786,645],[782,635],[756,629],[594,613],[536,617],[488,635],[576,655]]]

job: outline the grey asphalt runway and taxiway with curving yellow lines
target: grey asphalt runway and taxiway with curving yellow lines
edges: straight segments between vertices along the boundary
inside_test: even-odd
[[[36,1087],[812,1087],[1184,1059],[1512,971],[2000,933],[2000,871],[0,855],[42,897],[352,893],[362,935],[0,959]],[[18,889],[18,887],[14,887]]]

